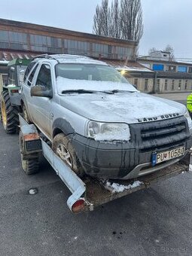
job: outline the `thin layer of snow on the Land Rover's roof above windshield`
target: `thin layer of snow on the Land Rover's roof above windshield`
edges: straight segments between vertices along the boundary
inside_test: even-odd
[[[83,64],[97,64],[97,65],[108,65],[97,59],[91,59],[87,56],[71,55],[71,54],[53,54],[50,55],[54,59],[58,60],[59,63],[83,63]]]

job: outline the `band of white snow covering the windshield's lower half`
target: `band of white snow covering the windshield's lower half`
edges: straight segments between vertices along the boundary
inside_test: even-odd
[[[136,92],[135,87],[130,83],[115,83],[108,81],[90,81],[90,80],[75,80],[57,77],[56,78],[58,93],[63,90],[126,90]]]

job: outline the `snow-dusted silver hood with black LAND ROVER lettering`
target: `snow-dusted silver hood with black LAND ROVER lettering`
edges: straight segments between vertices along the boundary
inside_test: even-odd
[[[184,105],[139,92],[85,93],[59,96],[60,105],[100,122],[138,123],[183,115]],[[166,116],[165,116],[166,115]]]

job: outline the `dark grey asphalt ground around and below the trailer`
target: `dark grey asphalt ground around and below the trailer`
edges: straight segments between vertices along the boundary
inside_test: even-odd
[[[184,173],[74,215],[49,164],[27,176],[18,136],[0,124],[0,256],[191,255],[191,184]],[[32,187],[38,194],[29,195]]]

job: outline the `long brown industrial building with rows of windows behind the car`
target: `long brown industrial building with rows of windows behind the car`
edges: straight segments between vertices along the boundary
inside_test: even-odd
[[[151,73],[136,62],[136,47],[136,41],[0,19],[0,73],[4,74],[5,83],[9,60],[32,59],[42,53],[69,53],[101,59],[112,66],[123,67],[132,82],[136,73],[140,76],[143,71]],[[139,89],[142,90],[142,85]]]

